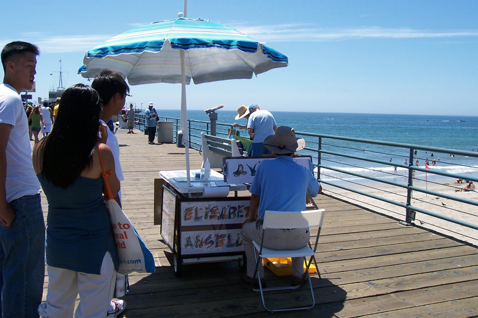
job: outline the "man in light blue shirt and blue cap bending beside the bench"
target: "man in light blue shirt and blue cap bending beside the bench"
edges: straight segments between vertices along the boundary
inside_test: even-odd
[[[248,133],[252,139],[252,156],[269,155],[271,151],[264,147],[266,137],[277,130],[276,121],[268,111],[261,111],[257,104],[249,105]]]

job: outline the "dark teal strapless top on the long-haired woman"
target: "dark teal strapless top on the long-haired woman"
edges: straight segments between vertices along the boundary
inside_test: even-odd
[[[118,270],[110,216],[102,195],[103,180],[79,176],[63,189],[37,174],[48,199],[46,262],[49,266],[100,274],[106,252]]]

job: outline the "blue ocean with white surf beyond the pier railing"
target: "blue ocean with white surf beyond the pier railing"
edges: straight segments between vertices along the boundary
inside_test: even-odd
[[[395,143],[421,145],[425,147],[438,147],[463,151],[478,150],[478,117],[467,116],[434,116],[434,115],[382,115],[382,114],[347,114],[347,113],[302,113],[302,112],[274,112],[277,126],[290,126],[298,132],[345,136],[361,139],[370,139]],[[232,124],[237,122],[246,125],[247,121],[234,120],[235,111],[216,111],[218,123]],[[158,110],[158,115],[179,118],[179,110]],[[209,121],[204,111],[188,111],[189,120]],[[218,126],[217,130],[226,129]],[[247,137],[243,130],[241,135]],[[316,148],[316,138],[305,137],[306,147]],[[315,143],[315,144],[314,144]],[[379,145],[347,143],[326,140],[332,151],[347,153],[349,155],[366,156],[368,158],[403,164],[408,159],[408,150],[390,148]],[[326,146],[323,147],[326,149]],[[316,158],[313,152],[301,151],[302,154],[310,154]],[[478,175],[478,158],[467,156],[450,156],[448,153],[431,153],[418,151],[419,166],[424,167],[428,158],[431,169],[439,169],[445,172]],[[350,158],[335,158],[324,155],[323,164],[337,167],[343,170],[365,173],[379,178],[397,180],[397,177],[405,177],[408,170],[398,167],[396,173],[393,166],[381,165],[371,162],[358,161]],[[432,159],[436,165],[432,166]],[[438,160],[439,159],[439,160]],[[316,159],[313,160],[316,163]],[[324,180],[335,179],[337,176],[346,180],[360,179],[354,176],[344,176],[331,170],[323,171]],[[327,175],[326,175],[327,174]],[[418,172],[417,177],[423,173]],[[399,178],[400,179],[400,178]],[[402,178],[403,179],[403,178]],[[403,181],[403,180],[402,180]]]

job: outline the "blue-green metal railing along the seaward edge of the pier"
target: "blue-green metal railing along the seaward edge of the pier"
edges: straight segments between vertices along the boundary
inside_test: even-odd
[[[136,120],[137,128],[144,128],[144,118],[137,117]],[[181,120],[169,117],[160,117],[160,120],[174,122],[176,141]],[[200,150],[201,132],[210,134],[210,123],[188,120],[187,127],[190,147]],[[228,128],[231,128],[230,124],[217,123],[216,135],[227,136]],[[243,137],[248,137],[244,131],[242,134]],[[420,213],[478,230],[476,214],[472,216],[476,217],[472,218],[473,221],[463,221],[467,218],[462,218],[463,212],[459,208],[447,207],[442,201],[441,204],[430,203],[429,199],[425,200],[417,195],[421,193],[425,196],[431,195],[437,200],[444,199],[467,204],[473,208],[478,207],[478,201],[455,195],[452,191],[459,189],[453,184],[457,179],[478,183],[478,152],[307,132],[296,132],[296,135],[305,139],[306,147],[301,154],[312,157],[312,162],[316,166],[314,172],[321,183],[404,208],[405,224],[414,222],[416,213]],[[387,161],[385,158],[388,157],[390,159]],[[440,157],[445,159],[440,160]],[[421,166],[414,165],[417,159],[421,162]],[[404,163],[397,163],[397,160],[400,160],[399,162],[403,160]],[[431,169],[424,167],[423,163],[426,160]],[[429,185],[432,189],[428,189]],[[403,218],[403,214],[397,215],[399,219]]]

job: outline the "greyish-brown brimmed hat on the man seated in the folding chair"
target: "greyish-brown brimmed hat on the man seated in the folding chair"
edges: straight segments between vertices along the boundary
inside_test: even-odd
[[[295,137],[293,128],[281,126],[274,135],[264,139],[264,147],[276,154],[288,154],[304,149],[305,141]]]

